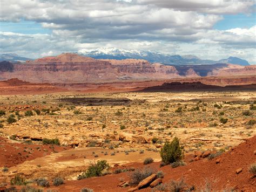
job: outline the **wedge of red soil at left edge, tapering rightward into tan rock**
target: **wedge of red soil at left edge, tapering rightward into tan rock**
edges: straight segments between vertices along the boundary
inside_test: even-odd
[[[38,150],[37,148],[40,148]],[[0,137],[0,167],[12,167],[24,161],[36,159],[55,152],[71,149],[51,145],[29,145]]]

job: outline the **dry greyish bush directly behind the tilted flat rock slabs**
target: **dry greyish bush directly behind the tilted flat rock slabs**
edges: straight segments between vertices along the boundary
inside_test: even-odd
[[[145,167],[144,169],[136,169],[134,172],[130,174],[130,182],[131,186],[137,186],[140,181],[144,180],[146,177],[152,175],[154,173],[153,169],[150,167]]]

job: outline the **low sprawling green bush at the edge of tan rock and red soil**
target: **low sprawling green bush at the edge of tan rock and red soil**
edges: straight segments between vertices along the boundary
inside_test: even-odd
[[[110,166],[106,160],[100,160],[97,163],[91,163],[91,165],[87,168],[86,172],[82,173],[82,175],[79,175],[77,177],[77,180],[82,180],[89,177],[102,176],[103,170],[108,168],[110,168]]]

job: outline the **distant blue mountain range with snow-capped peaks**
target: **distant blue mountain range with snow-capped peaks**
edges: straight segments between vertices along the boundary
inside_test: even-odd
[[[250,65],[246,60],[237,57],[229,57],[228,59],[203,60],[193,55],[170,55],[157,51],[139,51],[124,50],[117,48],[102,47],[98,49],[82,49],[76,52],[83,56],[93,57],[95,59],[145,59],[151,63],[163,63],[165,65],[210,65],[215,63],[231,63],[239,65]]]

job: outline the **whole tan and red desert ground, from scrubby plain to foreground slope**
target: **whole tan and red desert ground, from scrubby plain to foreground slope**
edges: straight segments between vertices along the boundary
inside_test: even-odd
[[[107,160],[113,173],[145,167],[143,161],[152,157],[150,166],[165,173],[163,183],[184,177],[197,189],[207,179],[214,189],[248,190],[255,187],[247,171],[255,161],[255,98],[255,92],[247,91],[2,95],[0,166],[8,171],[0,173],[1,186],[8,187],[19,173],[31,181],[60,176],[64,185],[51,184],[59,191],[126,191],[130,188],[117,184],[128,181],[132,170],[80,181],[77,176],[93,161]],[[186,166],[159,168],[159,150],[174,136]],[[59,145],[43,145],[55,138]],[[219,150],[226,152],[219,162],[204,158]]]

